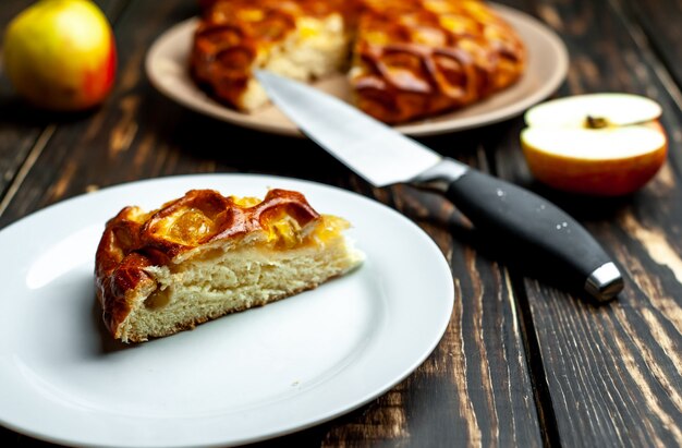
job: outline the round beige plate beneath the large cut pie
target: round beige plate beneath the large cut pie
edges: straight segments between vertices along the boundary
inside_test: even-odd
[[[395,126],[409,135],[434,135],[482,126],[514,117],[551,95],[563,82],[569,57],[561,39],[532,16],[511,8],[495,9],[514,26],[528,51],[526,72],[510,88],[462,110]],[[241,113],[210,98],[188,74],[188,55],[197,20],[190,19],[163,33],[151,46],[146,71],[163,95],[197,112],[245,128],[300,136],[296,126],[275,106],[252,114]],[[343,75],[315,83],[320,89],[345,100],[350,90]]]

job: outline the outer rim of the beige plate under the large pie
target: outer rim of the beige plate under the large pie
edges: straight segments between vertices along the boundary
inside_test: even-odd
[[[500,121],[521,116],[529,107],[552,95],[563,83],[569,71],[569,52],[563,40],[561,40],[561,38],[548,25],[523,11],[495,2],[489,2],[488,4],[507,21],[519,22],[523,24],[525,29],[529,29],[536,35],[541,36],[543,44],[546,45],[547,48],[550,48],[551,52],[557,58],[557,60],[553,61],[553,71],[551,76],[544,80],[540,87],[534,90],[531,95],[524,96],[519,101],[503,105],[496,110],[484,112],[478,116],[454,118],[444,121],[429,121],[427,119],[415,123],[399,124],[393,126],[395,131],[411,136],[433,136],[495,124]],[[178,96],[170,86],[167,86],[159,78],[157,68],[154,63],[154,60],[159,57],[159,48],[162,47],[166,39],[172,37],[173,34],[178,33],[181,27],[190,26],[190,24],[196,21],[198,21],[197,16],[185,19],[184,21],[181,21],[166,29],[154,40],[145,56],[144,63],[145,73],[151,85],[167,98],[197,113],[254,131],[304,138],[305,135],[301,133],[301,131],[299,131],[293,123],[284,125],[280,123],[259,121],[258,119],[254,119],[253,116],[235,111],[219,104],[218,101],[212,100],[204,94],[200,88],[194,86],[193,88],[197,92],[202,92],[202,95],[206,95],[208,100],[206,107],[199,107],[193,101],[186,100],[183,96]],[[532,55],[529,55],[529,57],[532,57]],[[509,89],[513,88],[513,85],[509,87]],[[507,90],[502,90],[500,94]],[[202,102],[206,101],[202,100]],[[452,111],[447,113],[456,112],[458,111]]]

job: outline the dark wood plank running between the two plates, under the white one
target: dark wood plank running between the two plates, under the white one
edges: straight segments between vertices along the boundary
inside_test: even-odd
[[[181,0],[129,4],[115,25],[125,51],[113,96],[92,116],[56,129],[0,216],[0,228],[70,196],[178,173],[292,175],[375,197],[414,219],[451,263],[456,296],[448,331],[431,356],[388,393],[334,421],[263,445],[541,445],[510,278],[495,259],[472,249],[474,235],[451,205],[409,187],[372,189],[306,141],[198,116],[151,88],[143,72],[147,48],[195,12],[193,2]],[[427,143],[485,169],[477,144],[484,134]]]

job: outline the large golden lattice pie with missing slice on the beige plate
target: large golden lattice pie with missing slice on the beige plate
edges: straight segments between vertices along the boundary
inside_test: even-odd
[[[254,69],[303,81],[348,72],[360,109],[401,123],[508,87],[525,58],[514,29],[476,0],[215,0],[195,33],[191,71],[245,111],[267,102]]]

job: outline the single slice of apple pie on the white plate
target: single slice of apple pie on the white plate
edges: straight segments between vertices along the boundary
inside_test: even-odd
[[[361,263],[349,226],[287,190],[263,201],[193,190],[157,210],[125,207],[96,253],[103,322],[139,342],[315,288]]]

